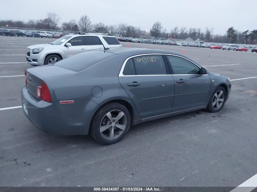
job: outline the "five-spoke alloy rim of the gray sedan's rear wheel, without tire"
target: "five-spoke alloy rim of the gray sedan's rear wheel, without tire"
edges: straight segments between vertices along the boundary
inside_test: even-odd
[[[127,125],[126,115],[120,110],[112,110],[102,118],[100,133],[107,140],[121,136]]]

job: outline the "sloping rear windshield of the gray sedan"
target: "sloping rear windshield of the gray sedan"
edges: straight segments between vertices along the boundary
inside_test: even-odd
[[[64,69],[79,72],[113,55],[115,54],[105,51],[86,51],[75,56],[71,56],[67,59],[61,60],[55,65]]]

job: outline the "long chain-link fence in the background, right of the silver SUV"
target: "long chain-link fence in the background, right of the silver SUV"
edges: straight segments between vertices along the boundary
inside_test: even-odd
[[[186,41],[185,39],[171,39],[171,38],[161,38],[161,37],[151,37],[151,36],[140,36],[139,41],[140,43],[150,43],[150,44],[161,44],[161,45],[172,45],[175,43],[200,43],[199,41]],[[250,45],[250,44],[233,44],[233,43],[217,43],[217,42],[203,42],[206,45],[243,45],[248,47],[254,47],[256,45]]]

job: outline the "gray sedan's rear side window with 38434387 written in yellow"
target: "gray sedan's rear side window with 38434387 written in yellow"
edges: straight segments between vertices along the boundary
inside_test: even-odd
[[[166,75],[167,71],[161,55],[146,55],[133,57],[127,61],[123,75],[132,74]]]

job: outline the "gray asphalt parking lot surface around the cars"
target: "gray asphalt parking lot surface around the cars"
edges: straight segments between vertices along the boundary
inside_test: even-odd
[[[27,46],[54,39],[0,36],[0,186],[238,186],[257,173],[257,54],[121,42],[184,51],[228,76],[218,113],[185,113],[132,126],[119,143],[51,136],[21,108]],[[252,77],[252,78],[249,78]],[[244,79],[249,78],[249,79]]]

